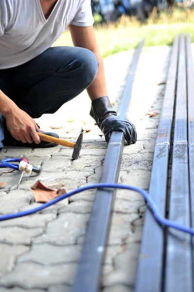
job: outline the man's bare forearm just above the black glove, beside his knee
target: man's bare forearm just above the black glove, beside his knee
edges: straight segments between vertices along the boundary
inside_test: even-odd
[[[87,89],[91,101],[101,96],[107,95],[103,58],[100,52],[93,53],[96,55],[99,65],[98,73],[92,84]]]

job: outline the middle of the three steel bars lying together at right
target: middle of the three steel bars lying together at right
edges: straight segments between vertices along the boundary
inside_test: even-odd
[[[186,54],[183,35],[179,37],[175,134],[169,208],[170,220],[180,225],[190,226]],[[165,292],[193,292],[192,261],[191,236],[168,229]]]

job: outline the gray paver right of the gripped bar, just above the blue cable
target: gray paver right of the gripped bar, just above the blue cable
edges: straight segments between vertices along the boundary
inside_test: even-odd
[[[132,169],[127,174],[121,175],[121,182],[138,186],[144,190],[149,189],[151,171],[144,169]]]

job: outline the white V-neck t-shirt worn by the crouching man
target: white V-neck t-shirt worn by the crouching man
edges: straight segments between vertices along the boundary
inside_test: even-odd
[[[0,69],[41,54],[69,24],[90,26],[93,22],[90,0],[57,0],[48,19],[39,0],[0,0]]]

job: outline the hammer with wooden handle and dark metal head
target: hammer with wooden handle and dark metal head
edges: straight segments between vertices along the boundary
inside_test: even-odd
[[[74,148],[71,158],[72,160],[79,158],[80,150],[82,147],[82,141],[83,141],[83,133],[80,133],[76,143],[67,141],[65,139],[59,139],[59,138],[55,138],[49,135],[45,135],[45,134],[42,134],[41,132],[37,132],[37,134],[40,137],[40,140],[42,141],[52,142],[52,143],[56,143],[58,145],[62,145],[65,147]]]

